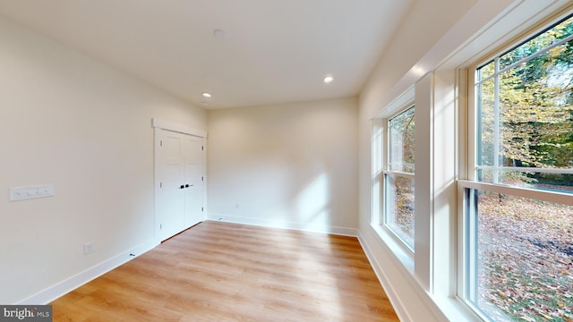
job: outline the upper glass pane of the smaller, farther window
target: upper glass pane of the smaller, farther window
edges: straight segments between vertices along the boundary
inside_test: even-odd
[[[394,116],[389,120],[389,169],[414,173],[415,109]]]

